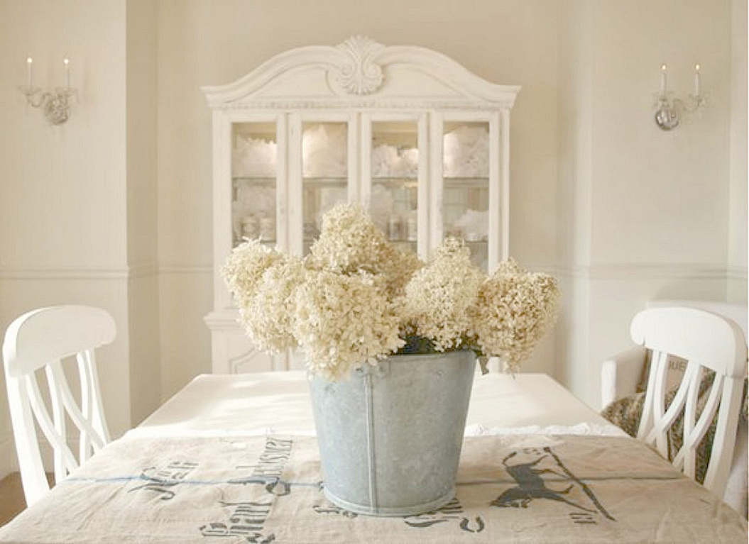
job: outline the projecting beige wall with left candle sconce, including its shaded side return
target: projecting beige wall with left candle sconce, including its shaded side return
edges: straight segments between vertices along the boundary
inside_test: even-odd
[[[0,0],[0,331],[41,306],[106,308],[118,328],[100,353],[114,435],[160,400],[155,13],[145,0]],[[80,101],[64,125],[16,90],[27,55],[43,87],[62,85],[70,57]],[[2,475],[15,455],[0,388]]]

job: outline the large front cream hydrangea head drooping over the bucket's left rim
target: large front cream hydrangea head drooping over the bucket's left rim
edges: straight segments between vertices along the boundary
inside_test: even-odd
[[[309,370],[331,380],[404,344],[392,303],[366,272],[308,270],[296,291],[294,335]]]

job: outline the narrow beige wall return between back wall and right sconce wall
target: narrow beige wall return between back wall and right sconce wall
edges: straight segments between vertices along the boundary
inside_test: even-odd
[[[580,394],[589,372],[589,297],[586,270],[592,225],[592,58],[591,1],[559,5],[557,263],[562,308],[557,324],[556,376]]]

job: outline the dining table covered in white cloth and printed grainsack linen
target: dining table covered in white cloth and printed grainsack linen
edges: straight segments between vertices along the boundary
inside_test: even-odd
[[[455,498],[327,501],[308,376],[195,377],[0,528],[2,543],[746,543],[747,522],[542,373],[476,373]]]

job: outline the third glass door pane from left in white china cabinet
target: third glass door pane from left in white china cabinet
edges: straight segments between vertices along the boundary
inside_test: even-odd
[[[416,122],[372,123],[372,219],[392,242],[416,252],[419,132]]]

